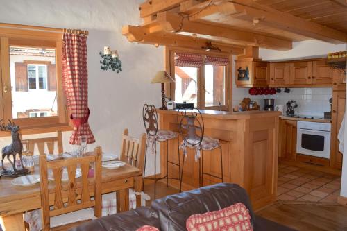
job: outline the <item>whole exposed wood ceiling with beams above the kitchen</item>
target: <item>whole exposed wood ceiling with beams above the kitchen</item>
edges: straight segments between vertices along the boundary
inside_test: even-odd
[[[293,41],[347,41],[346,0],[147,0],[141,26],[124,26],[130,42],[222,52],[245,46],[289,50]]]

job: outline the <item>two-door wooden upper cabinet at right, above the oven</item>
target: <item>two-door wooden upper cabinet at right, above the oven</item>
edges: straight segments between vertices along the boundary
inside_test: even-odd
[[[332,68],[324,60],[290,62],[289,87],[331,87]]]

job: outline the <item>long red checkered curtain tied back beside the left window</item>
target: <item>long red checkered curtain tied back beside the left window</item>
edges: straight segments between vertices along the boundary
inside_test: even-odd
[[[69,143],[79,144],[79,136],[86,135],[87,144],[92,144],[95,139],[88,123],[87,37],[64,33],[62,42],[62,82],[74,124]]]

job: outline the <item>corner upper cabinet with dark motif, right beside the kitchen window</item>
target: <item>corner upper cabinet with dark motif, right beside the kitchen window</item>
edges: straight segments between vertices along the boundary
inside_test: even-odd
[[[237,87],[266,87],[268,85],[268,64],[254,58],[236,60]]]

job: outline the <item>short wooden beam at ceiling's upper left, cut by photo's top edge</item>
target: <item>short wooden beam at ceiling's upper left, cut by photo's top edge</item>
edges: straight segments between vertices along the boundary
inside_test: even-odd
[[[180,3],[187,0],[147,0],[139,6],[140,17],[148,17],[158,12],[169,10],[180,6]]]

